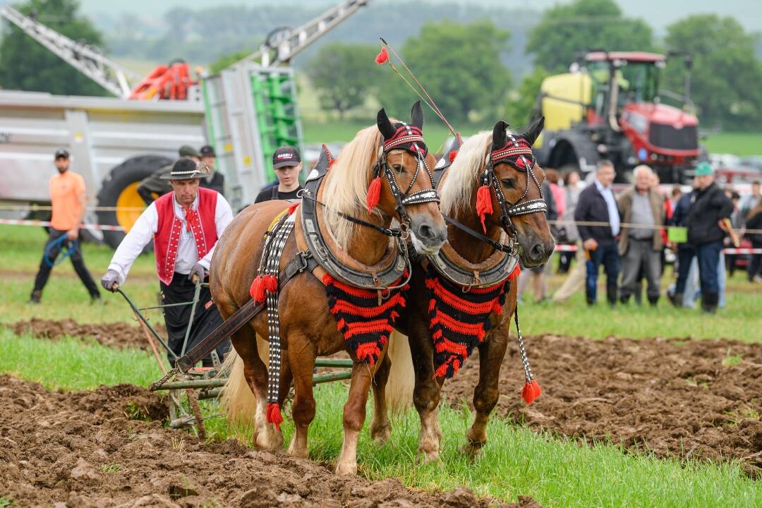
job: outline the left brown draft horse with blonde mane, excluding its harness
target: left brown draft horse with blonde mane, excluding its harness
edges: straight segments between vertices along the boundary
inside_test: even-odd
[[[328,207],[317,207],[323,237],[331,251],[355,269],[368,269],[386,259],[385,256],[389,254],[389,238],[373,228],[348,222],[339,212],[383,228],[389,228],[392,219],[402,222],[397,198],[393,195],[386,176],[383,177],[378,205],[373,212],[367,210],[367,191],[374,176],[373,163],[376,158],[386,153],[389,169],[394,172],[400,189],[407,188],[409,193],[416,193],[432,188],[428,171],[419,166],[421,162],[410,152],[402,149],[383,152],[386,134],[394,133],[397,128],[392,125],[393,122],[383,110],[379,111],[377,126],[361,130],[344,147],[318,191],[318,200]],[[413,107],[411,125],[418,128],[423,125],[419,103]],[[428,168],[434,168],[433,155],[427,154],[424,161]],[[210,267],[210,280],[214,301],[223,318],[228,318],[251,298],[249,288],[257,275],[263,235],[275,217],[290,204],[287,201],[271,201],[248,206],[235,217],[219,240]],[[300,214],[300,211],[301,207],[294,213]],[[405,206],[404,211],[410,219],[409,231],[416,250],[424,255],[436,253],[447,236],[437,203],[412,204]],[[296,238],[302,235],[304,232],[300,216],[296,216],[294,231],[283,250],[280,270],[293,259],[299,248]],[[337,331],[335,318],[329,312],[325,286],[311,273],[300,273],[280,290],[278,308],[283,349],[280,404],[287,397],[292,381],[294,384],[292,416],[296,432],[288,453],[303,458],[308,455],[307,429],[315,417],[315,398],[312,395],[315,357],[348,350],[353,356],[354,367],[347,403],[344,405],[344,443],[336,472],[354,474],[357,471],[357,438],[365,420],[368,390],[374,373],[384,363],[379,361],[374,366],[369,366],[359,362],[357,356],[349,350],[343,335]],[[261,449],[277,450],[283,446],[283,436],[272,423],[267,423],[267,366],[261,359],[257,340],[257,336],[267,337],[267,331],[267,313],[260,312],[247,327],[232,336],[232,345],[242,360],[245,383],[256,399],[255,444]],[[259,348],[263,343],[267,347],[267,343],[260,340]],[[384,352],[380,359],[383,359],[383,354]],[[235,372],[231,373],[226,388],[229,404],[236,404],[231,397],[250,397],[241,389],[242,377],[236,376]]]

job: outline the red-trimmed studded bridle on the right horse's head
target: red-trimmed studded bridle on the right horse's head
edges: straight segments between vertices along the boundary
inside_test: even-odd
[[[548,209],[545,199],[543,197],[543,187],[537,181],[537,177],[534,174],[534,154],[532,152],[531,145],[522,138],[517,138],[513,134],[508,133],[507,142],[504,147],[492,150],[487,156],[484,172],[482,173],[482,184],[491,187],[495,192],[495,198],[498,200],[498,204],[501,209],[500,223],[503,229],[512,238],[517,235],[516,227],[511,222],[511,217],[528,215],[530,213],[546,212]],[[527,184],[524,186],[523,194],[515,202],[511,203],[505,198],[503,193],[503,187],[500,184],[497,174],[495,174],[495,165],[507,162],[511,166],[527,173]],[[529,194],[529,181],[530,179],[537,186],[539,190],[539,198],[536,200],[526,200]]]

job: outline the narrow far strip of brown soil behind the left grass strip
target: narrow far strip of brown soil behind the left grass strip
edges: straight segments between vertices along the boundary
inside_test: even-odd
[[[6,324],[14,334],[24,333],[32,334],[34,337],[43,339],[57,340],[69,335],[81,339],[90,340],[91,338],[104,346],[123,348],[148,349],[146,334],[137,324],[118,323],[94,323],[81,324],[73,319],[63,319],[55,321],[51,319],[32,318],[28,321],[18,321],[13,324]],[[152,326],[158,332],[160,337],[166,337],[166,328],[163,324],[154,324]]]

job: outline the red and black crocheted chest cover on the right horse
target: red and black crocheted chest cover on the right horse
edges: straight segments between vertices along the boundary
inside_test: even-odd
[[[518,267],[518,265],[517,265]],[[490,315],[503,312],[507,289],[516,270],[495,286],[463,292],[429,264],[426,289],[429,296],[429,328],[434,339],[434,377],[452,378],[475,346],[492,327]]]

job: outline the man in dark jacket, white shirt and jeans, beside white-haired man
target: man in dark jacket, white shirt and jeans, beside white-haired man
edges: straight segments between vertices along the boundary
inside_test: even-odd
[[[611,189],[614,175],[611,161],[599,161],[595,180],[580,193],[575,209],[577,230],[589,259],[588,276],[585,280],[588,305],[594,305],[596,301],[598,270],[601,264],[606,271],[606,299],[610,305],[616,305],[616,278],[620,272],[616,235],[620,232],[620,215]],[[608,225],[585,225],[584,222],[607,222]]]

